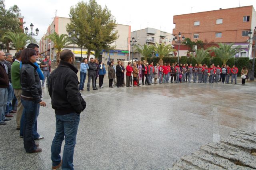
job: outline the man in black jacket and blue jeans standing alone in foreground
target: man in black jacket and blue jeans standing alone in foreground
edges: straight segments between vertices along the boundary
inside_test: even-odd
[[[74,53],[64,49],[60,53],[60,64],[49,77],[48,91],[55,110],[56,133],[52,141],[52,170],[62,166],[63,170],[73,170],[73,156],[80,113],[86,102],[78,89],[78,69],[72,64]],[[62,159],[61,145],[65,139]]]

